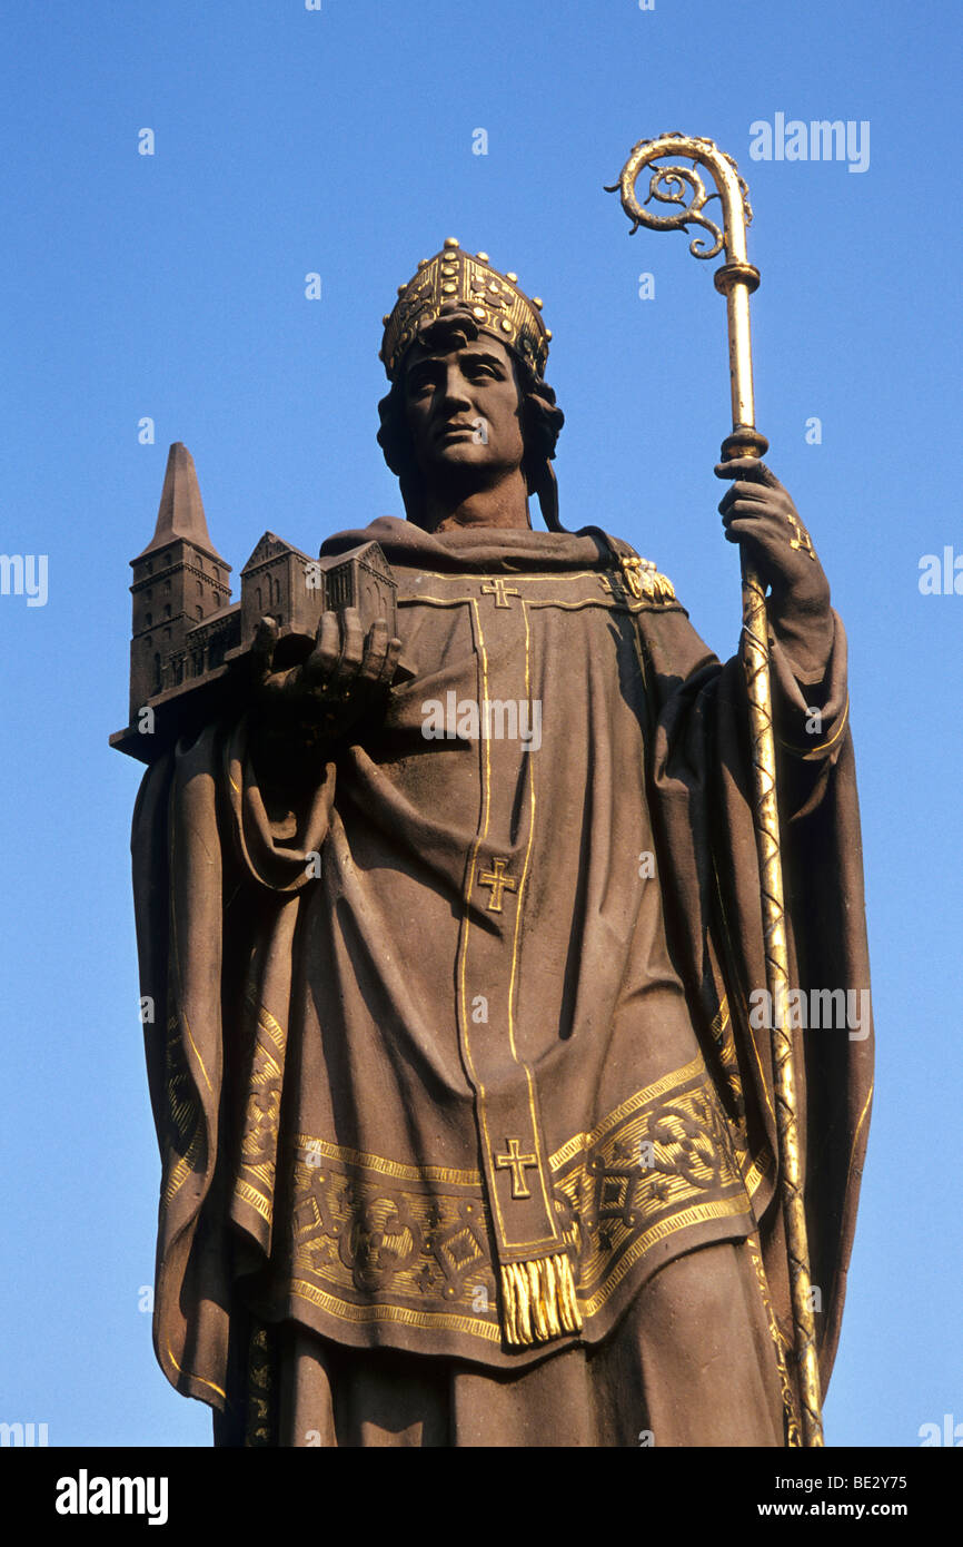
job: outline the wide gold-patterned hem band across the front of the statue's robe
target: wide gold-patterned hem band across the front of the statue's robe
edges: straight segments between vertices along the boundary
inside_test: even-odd
[[[518,1341],[526,1326],[541,1335],[543,1321],[558,1335],[553,1318],[563,1332],[580,1316],[590,1321],[672,1238],[683,1252],[685,1231],[723,1222],[733,1236],[754,1228],[744,1177],[757,1162],[727,1123],[702,1058],[637,1091],[552,1156],[560,1245],[502,1264],[518,1269],[510,1293],[492,1259],[481,1173],[400,1165],[303,1134],[297,1143],[275,1290],[356,1324],[448,1327],[498,1343],[501,1298],[509,1337],[513,1324]],[[536,1157],[507,1139],[499,1160],[527,1190],[524,1173]]]

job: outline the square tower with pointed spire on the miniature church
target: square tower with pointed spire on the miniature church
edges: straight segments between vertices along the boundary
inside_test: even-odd
[[[155,535],[130,563],[133,726],[148,699],[184,681],[189,630],[230,602],[230,565],[210,541],[193,456],[179,441],[167,456]]]

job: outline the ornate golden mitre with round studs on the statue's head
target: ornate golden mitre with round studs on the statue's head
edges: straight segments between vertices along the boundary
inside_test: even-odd
[[[394,381],[405,351],[442,308],[464,306],[482,333],[501,339],[541,381],[549,359],[550,328],[541,320],[541,300],[518,288],[518,274],[499,274],[487,252],[462,252],[456,237],[433,258],[422,258],[414,278],[399,285],[394,311],[382,317],[385,337],[379,359]]]

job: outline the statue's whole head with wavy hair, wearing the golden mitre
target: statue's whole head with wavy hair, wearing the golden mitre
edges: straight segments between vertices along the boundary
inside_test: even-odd
[[[470,483],[521,467],[546,524],[561,531],[550,463],[564,416],[544,381],[552,334],[539,312],[515,274],[498,274],[453,237],[399,288],[383,319],[391,390],[377,438],[410,520],[424,524],[433,478]]]

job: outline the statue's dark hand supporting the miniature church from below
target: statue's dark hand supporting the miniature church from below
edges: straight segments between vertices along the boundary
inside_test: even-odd
[[[334,741],[371,710],[391,684],[400,639],[379,617],[368,637],[357,608],[323,613],[315,645],[300,665],[275,670],[278,625],[263,617],[252,647],[252,713],[260,739],[312,746]]]

